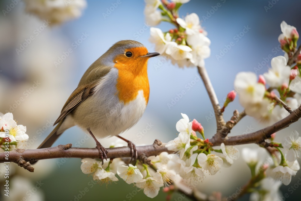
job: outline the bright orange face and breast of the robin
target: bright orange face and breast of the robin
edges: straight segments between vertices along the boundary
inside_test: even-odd
[[[139,58],[137,55],[146,55],[147,49],[143,47],[132,48],[134,50],[133,58],[126,58],[124,55],[118,55],[114,58],[114,67],[118,69],[118,79],[116,88],[120,102],[127,104],[135,100],[138,91],[143,90],[145,102],[149,98],[149,83],[147,77],[147,60]]]

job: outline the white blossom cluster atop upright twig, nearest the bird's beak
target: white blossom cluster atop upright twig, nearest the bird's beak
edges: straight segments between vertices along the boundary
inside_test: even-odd
[[[167,21],[176,26],[167,32],[151,27],[150,41],[155,44],[155,50],[171,59],[172,64],[184,66],[202,66],[204,59],[210,56],[210,39],[200,25],[199,16],[188,14],[184,19],[178,15],[178,9],[189,0],[145,0],[144,14],[151,26],[161,21]]]

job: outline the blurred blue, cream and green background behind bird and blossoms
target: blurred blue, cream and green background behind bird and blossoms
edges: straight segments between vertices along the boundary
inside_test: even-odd
[[[144,1],[120,0],[120,4],[116,4],[116,0],[88,0],[79,18],[62,25],[51,25],[26,13],[23,1],[15,1],[17,4],[10,11],[3,12],[9,10],[13,2],[0,2],[0,111],[12,112],[18,124],[27,127],[26,133],[31,140],[29,148],[36,148],[51,132],[53,122],[82,74],[115,42],[134,39],[143,43],[149,52],[154,52],[154,45],[148,41],[150,27],[144,24]],[[217,3],[221,5],[218,9]],[[113,5],[117,6],[108,12]],[[191,0],[182,6],[180,16],[197,13],[203,21],[202,27],[208,32],[211,57],[205,63],[221,104],[227,93],[233,90],[238,72],[263,74],[270,67],[269,55],[284,55],[277,40],[281,33],[280,23],[285,20],[300,31],[300,6],[299,1],[277,0]],[[163,31],[173,28],[165,22],[158,27]],[[237,37],[244,27],[249,28],[247,33]],[[216,55],[220,55],[232,41],[234,46],[217,58]],[[24,42],[28,45],[22,48]],[[181,112],[197,119],[203,125],[206,137],[213,136],[216,130],[213,108],[202,81],[193,81],[199,77],[196,68],[181,69],[160,56],[149,60],[148,76],[151,92],[147,109],[138,124],[123,137],[137,140],[137,145],[151,144],[157,138],[168,142],[176,136],[175,124],[182,118]],[[187,87],[189,85],[191,87]],[[172,104],[182,90],[186,94]],[[225,120],[231,118],[234,109],[243,110],[237,99],[226,109]],[[149,124],[153,126],[147,130]],[[231,135],[250,133],[264,126],[253,118],[245,117]],[[300,123],[292,124],[278,132],[276,140],[280,141],[293,130],[300,133],[300,128]],[[143,133],[142,137],[139,132]],[[101,143],[108,147],[116,140],[112,137]],[[75,147],[95,146],[94,140],[91,137],[87,139],[77,127],[67,130],[54,146],[67,143]],[[243,147],[255,149],[258,146],[237,146],[240,150]],[[11,166],[10,174],[15,175],[10,180],[11,196],[1,197],[1,200],[150,200],[142,191],[137,192],[136,187],[122,180],[107,186],[94,184],[92,177],[82,174],[80,165],[80,159],[45,160],[34,166],[34,173]],[[1,168],[0,182],[4,180]],[[206,194],[220,191],[227,197],[246,184],[249,178],[250,171],[240,158],[231,168],[222,168],[214,177],[206,178],[199,189]],[[283,195],[288,195],[281,200],[296,200],[301,196],[297,188],[299,180],[301,171],[293,177],[289,186],[281,186]],[[296,190],[292,191],[291,186]],[[155,199],[164,200],[165,196],[160,191]],[[182,198],[175,194],[172,199]],[[240,200],[248,199],[244,196]]]

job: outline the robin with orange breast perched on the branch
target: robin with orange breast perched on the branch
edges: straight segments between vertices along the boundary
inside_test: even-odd
[[[119,134],[134,126],[146,109],[147,61],[158,55],[134,40],[116,42],[87,69],[54,122],[57,126],[38,149],[52,146],[65,130],[78,125],[91,134],[102,160],[107,150],[98,140],[117,136],[128,143],[136,161],[135,144]]]

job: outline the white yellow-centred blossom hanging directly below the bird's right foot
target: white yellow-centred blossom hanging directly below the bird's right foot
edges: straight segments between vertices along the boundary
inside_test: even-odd
[[[129,164],[129,166],[122,165],[117,167],[117,174],[120,178],[126,181],[127,184],[136,183],[143,179],[143,176],[137,166]]]

